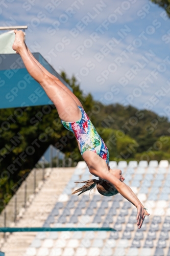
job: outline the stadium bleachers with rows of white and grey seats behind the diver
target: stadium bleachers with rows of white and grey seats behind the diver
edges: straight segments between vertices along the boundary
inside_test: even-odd
[[[169,163],[160,161],[110,162],[123,170],[125,182],[150,213],[141,229],[136,225],[136,207],[121,195],[104,197],[96,188],[89,195],[71,195],[78,184],[93,178],[84,162],[59,196],[43,227],[70,227],[66,232],[38,232],[26,256],[164,256],[170,255]],[[82,184],[79,184],[82,185]],[[71,227],[113,227],[117,231],[76,231]]]

